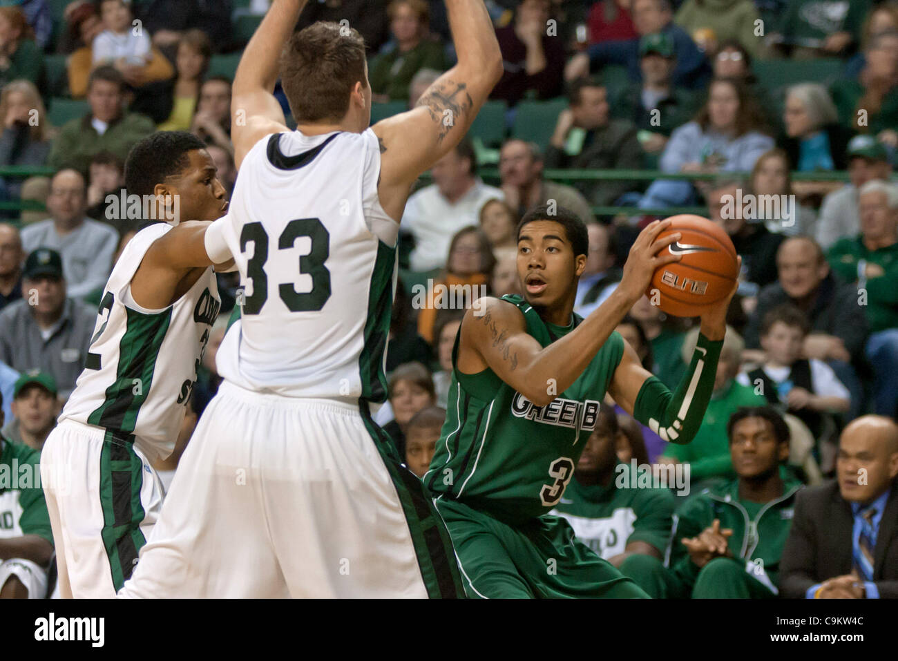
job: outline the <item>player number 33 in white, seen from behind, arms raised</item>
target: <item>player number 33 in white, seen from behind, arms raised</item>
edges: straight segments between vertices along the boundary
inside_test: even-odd
[[[275,0],[244,51],[231,210],[183,243],[198,263],[233,256],[242,318],[120,596],[463,595],[429,493],[369,402],[385,399],[409,190],[467,132],[502,57],[482,0],[447,0],[458,65],[417,108],[369,128],[363,40],[323,22],[291,36],[304,4]],[[272,95],[282,51],[293,132]]]

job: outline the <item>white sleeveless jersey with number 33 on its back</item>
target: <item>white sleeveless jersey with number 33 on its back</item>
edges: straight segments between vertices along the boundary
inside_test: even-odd
[[[213,260],[232,255],[241,319],[216,357],[226,380],[290,397],[383,401],[399,225],[377,197],[370,128],[260,140],[228,215],[209,227]]]

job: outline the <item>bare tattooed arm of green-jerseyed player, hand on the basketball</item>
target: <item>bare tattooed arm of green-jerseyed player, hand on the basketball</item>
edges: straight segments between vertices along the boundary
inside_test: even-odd
[[[548,347],[541,347],[526,332],[524,316],[515,305],[481,298],[462,322],[462,347],[470,346],[475,353],[471,356],[460,352],[458,366],[462,373],[475,374],[489,366],[500,379],[537,406],[548,404],[583,374],[624,315],[645,292],[655,269],[680,260],[678,255],[663,251],[679,240],[680,234],[657,240],[669,226],[667,220],[648,225],[630,249],[621,285],[574,331]],[[529,245],[532,241],[522,232],[518,250],[524,254],[533,251],[534,246]],[[585,255],[581,258],[585,260]]]

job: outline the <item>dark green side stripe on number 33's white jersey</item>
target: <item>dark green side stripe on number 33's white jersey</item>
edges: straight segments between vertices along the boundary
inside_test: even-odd
[[[362,399],[381,402],[386,399],[387,377],[383,357],[387,348],[392,313],[392,278],[396,266],[396,248],[377,242],[377,256],[368,286],[368,316],[365,340],[358,357]]]

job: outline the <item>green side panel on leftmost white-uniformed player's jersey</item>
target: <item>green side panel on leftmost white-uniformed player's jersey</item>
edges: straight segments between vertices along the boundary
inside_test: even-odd
[[[128,307],[125,311],[128,321],[119,341],[116,380],[106,389],[105,400],[92,411],[87,422],[130,434],[150,393],[156,357],[172,321],[172,308],[155,314],[138,313]]]

